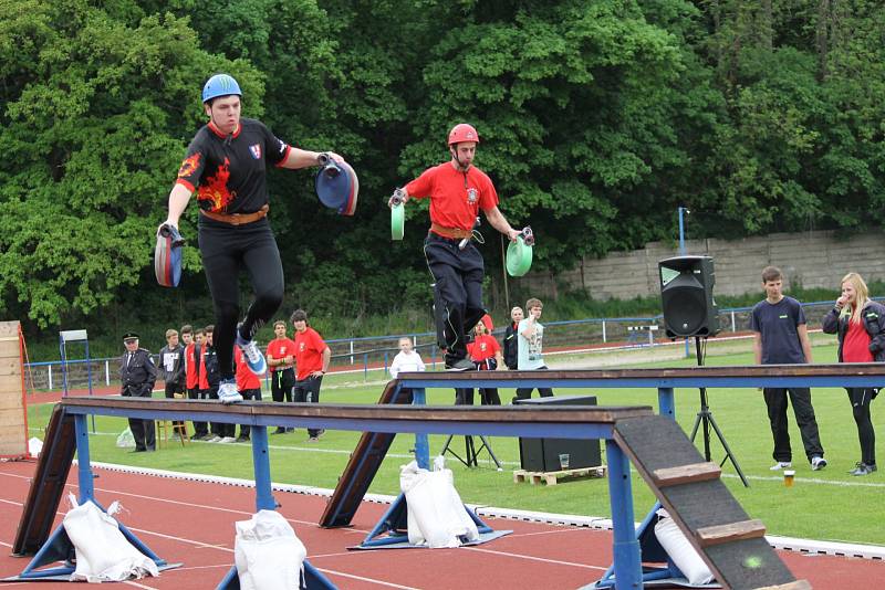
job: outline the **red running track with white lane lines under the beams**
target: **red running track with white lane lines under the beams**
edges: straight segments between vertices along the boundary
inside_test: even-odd
[[[27,497],[34,462],[0,463],[0,578],[15,576],[29,558],[9,555]],[[252,488],[95,467],[95,496],[103,505],[121,501],[117,515],[142,541],[169,562],[184,566],[123,582],[144,589],[210,589],[233,563],[233,523],[254,510]],[[67,489],[77,494],[75,470]],[[479,547],[460,549],[383,549],[348,551],[381,518],[386,505],[364,503],[346,529],[322,529],[316,521],[324,497],[277,492],[277,501],[308,548],[308,559],[342,589],[507,588],[554,590],[597,580],[612,561],[611,534],[570,526],[486,519],[513,534]],[[61,513],[66,510],[63,503]],[[877,588],[885,563],[830,556],[781,552],[798,578],[816,589]],[[33,582],[0,582],[23,588]],[[70,588],[67,582],[39,582],[39,588]]]

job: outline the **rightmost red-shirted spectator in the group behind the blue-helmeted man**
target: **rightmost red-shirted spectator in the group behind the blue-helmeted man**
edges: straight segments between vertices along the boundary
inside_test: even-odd
[[[320,403],[320,386],[329,370],[332,350],[315,329],[308,325],[304,309],[295,309],[292,314],[295,327],[295,387],[292,398],[306,403]],[[316,442],[325,432],[323,429],[308,429],[308,442]]]

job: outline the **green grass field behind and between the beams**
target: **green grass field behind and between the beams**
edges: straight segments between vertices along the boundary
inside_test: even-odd
[[[814,356],[819,362],[830,362],[835,358],[832,339],[815,337]],[[706,365],[751,365],[749,340],[732,341],[712,346],[708,351]],[[727,352],[727,354],[726,354]],[[646,355],[647,356],[647,355]],[[620,367],[677,367],[694,366],[696,360],[677,359],[637,364],[642,356],[621,354]],[[606,365],[611,365],[611,358]],[[565,361],[566,364],[569,360]],[[575,359],[576,362],[576,359]],[[581,358],[581,368],[593,364],[587,357]],[[563,367],[560,359],[556,367]],[[330,376],[322,391],[324,403],[374,403],[381,396],[383,382],[354,381],[362,377]],[[502,390],[501,399],[512,397],[510,390]],[[560,394],[591,393],[581,390],[558,391]],[[657,405],[656,390],[601,389],[592,391],[600,404],[642,404]],[[821,440],[826,451],[829,466],[812,472],[802,451],[802,442],[791,414],[791,439],[796,471],[795,484],[791,488],[783,485],[779,473],[769,471],[771,459],[771,433],[766,414],[762,393],[750,389],[711,389],[710,408],[714,418],[723,431],[725,438],[750,481],[746,488],[737,477],[735,468],[723,466],[723,481],[738,501],[753,518],[761,518],[770,534],[813,538],[833,541],[852,541],[885,545],[885,482],[877,472],[866,477],[847,474],[860,460],[857,431],[852,419],[851,408],[843,389],[814,389],[812,399],[820,425]],[[535,393],[537,394],[537,393]],[[877,400],[879,403],[882,400]],[[428,391],[428,403],[448,405],[454,402],[451,390]],[[677,418],[684,430],[690,432],[698,409],[697,390],[676,391]],[[29,408],[29,424],[32,433],[39,435],[51,411],[50,404],[35,404]],[[873,404],[874,424],[879,433],[883,430],[883,413],[878,404]],[[125,420],[97,418],[96,434],[91,438],[93,461],[137,465],[152,468],[189,473],[215,474],[229,477],[252,477],[251,450],[248,445],[218,445],[195,443],[183,449],[170,444],[156,453],[131,454],[117,449],[117,434],[125,429]],[[882,434],[881,434],[882,436]],[[308,443],[306,433],[301,430],[291,434],[270,436],[271,470],[274,482],[301,484],[332,488],[342,473],[350,452],[356,444],[358,433],[326,432],[319,443]],[[444,436],[431,436],[431,453],[442,447]],[[610,515],[608,484],[605,478],[579,480],[552,487],[531,486],[513,483],[512,471],[519,467],[519,450],[516,439],[490,439],[498,457],[504,462],[504,471],[494,470],[487,454],[480,455],[480,467],[468,470],[457,461],[449,460],[448,466],[455,472],[456,486],[465,502],[485,506],[522,508],[560,514],[584,516]],[[700,445],[700,439],[696,441]],[[460,439],[456,439],[456,450],[462,450]],[[398,493],[399,465],[409,461],[409,450],[414,436],[397,436],[385,460],[371,492],[378,494]],[[718,462],[723,451],[714,436],[712,460]],[[654,504],[654,496],[642,478],[633,476],[634,506],[636,519],[642,519]]]

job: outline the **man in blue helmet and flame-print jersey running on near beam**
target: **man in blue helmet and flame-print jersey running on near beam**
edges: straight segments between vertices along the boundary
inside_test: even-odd
[[[206,82],[202,106],[209,122],[188,146],[169,192],[169,217],[164,223],[177,228],[190,196],[197,193],[199,247],[216,315],[218,398],[223,403],[242,400],[235,379],[235,344],[252,372],[267,371],[253,337],[283,301],[280,251],[267,219],[267,164],[299,169],[317,166],[321,159],[320,152],[277,138],[263,123],[240,118],[241,99],[240,85],[228,74],[216,74]],[[252,282],[254,301],[238,324],[242,271]]]

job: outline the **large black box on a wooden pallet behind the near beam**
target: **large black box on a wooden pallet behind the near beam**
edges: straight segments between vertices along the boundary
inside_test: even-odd
[[[596,396],[554,396],[513,400],[528,407],[596,405]],[[568,459],[566,459],[568,457]],[[519,439],[520,466],[532,472],[554,472],[602,465],[598,439]],[[569,466],[564,463],[568,461]]]

